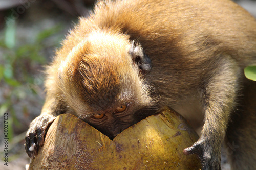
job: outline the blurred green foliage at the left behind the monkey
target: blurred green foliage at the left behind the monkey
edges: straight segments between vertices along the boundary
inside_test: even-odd
[[[10,115],[8,119],[10,139],[13,136],[12,123],[17,127],[20,126],[14,106],[26,100],[29,95],[34,95],[35,98],[40,96],[37,89],[43,82],[40,71],[47,61],[46,48],[49,45],[57,46],[63,38],[57,37],[52,43],[47,43],[51,36],[56,35],[63,28],[59,24],[29,36],[29,41],[17,36],[17,28],[15,21],[9,22],[0,32],[0,85],[4,99],[0,103],[0,117],[5,112]],[[23,112],[28,110],[27,105],[22,107]]]

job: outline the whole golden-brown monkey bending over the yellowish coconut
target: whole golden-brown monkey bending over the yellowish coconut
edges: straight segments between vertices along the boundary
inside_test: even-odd
[[[199,134],[185,155],[221,169],[256,169],[256,21],[229,0],[99,1],[46,68],[46,102],[30,124],[30,158],[57,115],[70,113],[113,139],[168,106]],[[249,158],[248,158],[249,156]]]

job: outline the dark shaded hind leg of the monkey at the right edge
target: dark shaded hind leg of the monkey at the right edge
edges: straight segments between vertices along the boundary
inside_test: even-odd
[[[234,170],[256,169],[256,82],[246,81],[225,140],[224,152]]]

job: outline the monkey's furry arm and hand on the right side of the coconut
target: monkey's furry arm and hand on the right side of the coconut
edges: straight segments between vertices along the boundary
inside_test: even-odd
[[[224,140],[230,113],[239,89],[240,69],[232,59],[222,58],[212,70],[201,91],[205,113],[200,139],[184,149],[184,154],[198,154],[203,170],[220,169],[221,143]]]

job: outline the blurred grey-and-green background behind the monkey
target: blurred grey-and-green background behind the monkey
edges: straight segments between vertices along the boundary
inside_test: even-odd
[[[256,17],[256,1],[236,1]],[[0,0],[0,169],[25,169],[24,137],[44,104],[44,65],[94,0]],[[8,113],[8,119],[4,114]],[[8,166],[4,165],[4,120]],[[229,169],[225,157],[223,169]]]

